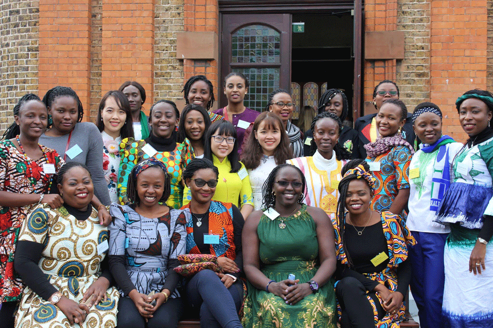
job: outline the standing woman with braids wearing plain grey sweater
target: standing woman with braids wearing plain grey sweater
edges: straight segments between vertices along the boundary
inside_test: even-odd
[[[91,173],[94,195],[106,206],[111,203],[103,173],[103,138],[96,125],[83,122],[84,110],[75,91],[54,87],[46,92],[43,103],[52,124],[40,137],[40,144],[56,150],[65,161],[84,164]]]

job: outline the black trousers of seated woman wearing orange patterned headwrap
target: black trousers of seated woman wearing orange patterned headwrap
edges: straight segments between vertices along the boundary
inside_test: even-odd
[[[374,328],[375,319],[373,308],[368,301],[370,296],[376,305],[378,319],[385,316],[385,310],[374,292],[366,293],[366,289],[359,280],[346,277],[335,286],[335,295],[339,301],[342,316],[340,326],[342,328]]]

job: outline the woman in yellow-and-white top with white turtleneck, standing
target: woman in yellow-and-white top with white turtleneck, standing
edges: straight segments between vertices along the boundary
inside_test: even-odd
[[[308,206],[321,208],[335,218],[339,194],[340,170],[351,154],[340,146],[338,138],[343,124],[336,114],[321,112],[312,121],[311,152],[313,156],[288,160],[298,167],[307,179],[305,202]]]

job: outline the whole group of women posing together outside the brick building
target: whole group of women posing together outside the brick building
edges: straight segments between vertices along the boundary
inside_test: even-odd
[[[491,325],[493,95],[458,98],[462,145],[392,81],[362,130],[340,90],[301,131],[288,91],[258,113],[248,86],[227,75],[212,113],[194,76],[181,112],[147,117],[127,81],[96,126],[68,87],[22,97],[0,142],[0,322],[399,327],[411,285],[422,327]]]

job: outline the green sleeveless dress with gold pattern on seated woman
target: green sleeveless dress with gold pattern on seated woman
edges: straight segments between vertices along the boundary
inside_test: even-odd
[[[281,218],[271,220],[262,214],[257,227],[260,270],[270,280],[288,279],[290,273],[299,283],[310,281],[319,268],[316,224],[303,204],[294,215],[282,218],[286,229],[280,229]],[[334,281],[320,286],[317,293],[294,305],[266,290],[248,283],[244,305],[243,327],[335,328],[336,302]]]

